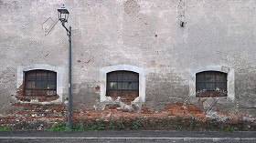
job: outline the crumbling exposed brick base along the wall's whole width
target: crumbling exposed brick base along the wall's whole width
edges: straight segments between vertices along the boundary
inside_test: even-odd
[[[20,108],[16,115],[0,117],[2,126],[12,126],[16,129],[44,129],[56,122],[67,122],[67,107],[65,104],[14,104]],[[229,117],[229,113],[219,112]],[[138,111],[119,109],[119,105],[107,105],[104,110],[80,109],[72,111],[74,124],[101,120],[104,124],[120,122],[131,127],[132,122],[139,122],[143,129],[176,129],[187,128],[195,130],[217,130],[222,126],[233,125],[240,130],[256,130],[256,118],[244,120],[241,115],[233,115],[228,119],[219,120],[208,117],[195,105],[166,104],[162,110],[152,110],[142,107]]]

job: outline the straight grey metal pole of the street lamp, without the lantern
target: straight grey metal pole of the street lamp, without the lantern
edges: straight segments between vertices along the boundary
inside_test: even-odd
[[[69,26],[69,30],[68,30],[68,36],[69,36],[69,108],[68,108],[68,126],[69,126],[69,131],[72,128],[72,97],[71,97],[71,26]]]

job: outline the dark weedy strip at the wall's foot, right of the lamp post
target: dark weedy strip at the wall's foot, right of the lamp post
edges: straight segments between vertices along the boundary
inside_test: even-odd
[[[256,125],[251,122],[240,121],[236,124],[219,122],[217,120],[199,121],[195,118],[136,118],[132,120],[87,120],[74,123],[74,128],[85,127],[89,130],[93,126],[101,126],[102,129],[141,129],[141,130],[197,130],[197,131],[256,131]],[[90,128],[92,127],[92,128]]]

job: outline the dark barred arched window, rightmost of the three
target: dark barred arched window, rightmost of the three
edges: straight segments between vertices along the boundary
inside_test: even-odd
[[[196,97],[227,97],[227,74],[205,71],[196,75]]]

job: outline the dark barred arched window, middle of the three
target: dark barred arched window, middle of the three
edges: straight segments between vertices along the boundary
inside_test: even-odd
[[[107,73],[107,97],[139,97],[139,74],[132,71]]]

